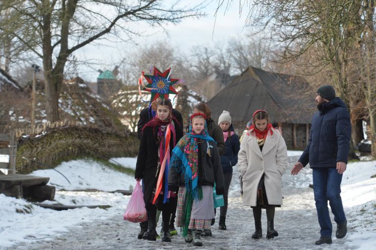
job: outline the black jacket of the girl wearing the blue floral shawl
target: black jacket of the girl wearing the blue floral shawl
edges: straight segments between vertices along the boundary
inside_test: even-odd
[[[207,143],[204,141],[198,144],[199,152],[199,186],[214,186],[217,195],[223,195],[225,191],[225,184],[223,179],[223,172],[221,167],[220,154],[215,145],[215,142],[209,142],[212,146],[210,149],[211,157],[206,153]],[[179,186],[185,185],[183,174],[176,171],[175,167],[171,167],[168,175],[169,190],[178,191]]]

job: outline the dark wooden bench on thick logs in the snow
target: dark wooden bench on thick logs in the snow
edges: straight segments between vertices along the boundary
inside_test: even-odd
[[[0,175],[0,193],[15,198],[53,200],[55,187],[46,185],[50,178],[24,174]]]

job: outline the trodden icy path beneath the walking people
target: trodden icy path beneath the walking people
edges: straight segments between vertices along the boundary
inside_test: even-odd
[[[304,168],[298,176],[291,176],[290,171],[298,157],[289,157],[289,168],[283,176],[284,205],[276,208],[275,229],[279,236],[266,239],[266,214],[263,210],[263,238],[254,240],[250,235],[254,232],[252,209],[241,205],[237,171],[234,172],[229,198],[229,209],[226,225],[228,230],[218,230],[216,224],[212,227],[213,237],[203,237],[204,246],[195,247],[185,243],[180,234],[172,237],[172,243],[162,243],[137,239],[138,224],[122,221],[123,211],[109,220],[83,222],[72,227],[68,233],[59,234],[53,240],[22,243],[14,248],[27,249],[354,249],[358,248],[351,237],[335,238],[336,225],[333,225],[333,244],[316,246],[314,243],[320,236],[317,221],[313,190],[308,187],[311,183],[311,170]],[[369,204],[373,204],[371,201]],[[373,206],[373,205],[371,205]],[[345,212],[346,208],[345,208]],[[357,210],[347,213],[348,234],[355,232],[356,224],[364,223],[367,216],[359,217]],[[373,216],[374,217],[374,216]],[[372,214],[371,214],[372,218]],[[100,218],[99,218],[100,219]],[[372,221],[372,219],[371,219]],[[332,222],[334,222],[332,220]],[[371,222],[371,228],[374,229]],[[160,231],[160,228],[157,229]],[[373,237],[373,236],[371,236]],[[365,239],[367,240],[367,239]],[[374,238],[372,238],[374,240]],[[372,241],[371,240],[371,241]],[[373,243],[374,244],[374,241]],[[372,248],[372,247],[371,247]]]

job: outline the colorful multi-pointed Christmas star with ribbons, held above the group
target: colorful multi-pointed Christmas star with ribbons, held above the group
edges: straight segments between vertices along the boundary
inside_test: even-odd
[[[162,73],[159,71],[159,69],[154,67],[153,75],[150,76],[144,75],[144,71],[142,71],[142,74],[138,80],[140,95],[141,90],[151,92],[150,102],[153,102],[159,97],[162,99],[168,99],[170,93],[177,95],[178,92],[172,85],[180,82],[180,79],[170,78],[170,72],[171,68]],[[146,86],[142,83],[143,79],[145,79],[148,83]]]

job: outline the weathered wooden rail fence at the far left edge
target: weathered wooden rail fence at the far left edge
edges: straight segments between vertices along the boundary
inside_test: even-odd
[[[9,134],[0,134],[0,142],[8,147],[0,148],[0,154],[9,155],[9,162],[0,162],[0,168],[8,169],[8,174],[16,173],[17,139],[15,131]],[[2,173],[2,171],[0,171]],[[0,173],[0,174],[1,174]]]

